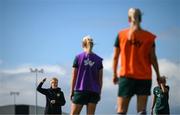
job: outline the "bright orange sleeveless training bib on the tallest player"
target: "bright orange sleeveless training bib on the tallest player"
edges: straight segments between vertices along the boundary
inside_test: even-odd
[[[121,69],[120,76],[139,80],[151,80],[150,53],[156,38],[152,33],[138,30],[128,39],[129,29],[119,32]]]

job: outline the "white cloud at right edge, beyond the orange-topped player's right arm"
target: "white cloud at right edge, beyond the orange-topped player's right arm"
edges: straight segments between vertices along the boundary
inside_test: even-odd
[[[160,72],[165,75],[167,79],[167,84],[170,86],[170,107],[180,108],[180,63],[173,63],[167,59],[159,60]],[[180,111],[179,111],[180,112]]]

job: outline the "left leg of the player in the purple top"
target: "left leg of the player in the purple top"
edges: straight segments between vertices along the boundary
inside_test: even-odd
[[[82,107],[83,105],[72,103],[70,115],[79,115],[82,110]]]

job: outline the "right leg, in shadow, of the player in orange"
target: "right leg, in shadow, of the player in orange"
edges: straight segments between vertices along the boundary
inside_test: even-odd
[[[146,114],[147,99],[147,95],[137,96],[137,112],[141,115]]]

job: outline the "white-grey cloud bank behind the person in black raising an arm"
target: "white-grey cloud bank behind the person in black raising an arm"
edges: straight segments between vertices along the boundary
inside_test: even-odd
[[[35,104],[35,91],[36,91],[36,85],[35,85],[35,75],[33,73],[30,73],[30,67],[32,68],[43,68],[44,74],[38,74],[38,83],[42,78],[45,77],[51,77],[52,75],[64,76],[66,73],[66,70],[64,67],[61,67],[59,65],[41,65],[41,66],[31,66],[31,65],[21,65],[15,68],[6,68],[6,69],[0,69],[0,97],[3,97],[0,99],[0,105],[6,105],[6,104],[12,104],[13,103],[13,97],[10,96],[11,91],[18,91],[20,92],[20,95],[17,97],[17,104]],[[66,78],[67,79],[67,78]],[[49,84],[49,78],[44,83],[43,87],[48,88],[50,87]],[[62,83],[61,80],[60,86],[63,84],[69,85],[67,83]],[[66,87],[66,86],[65,86]],[[64,87],[63,87],[64,88]],[[45,105],[45,98],[43,95],[38,93],[38,103],[41,106]]]

